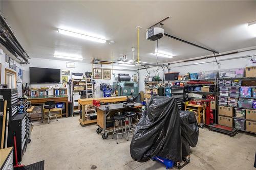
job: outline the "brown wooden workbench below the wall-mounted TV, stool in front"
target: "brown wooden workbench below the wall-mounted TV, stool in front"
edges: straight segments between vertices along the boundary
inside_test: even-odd
[[[31,104],[44,104],[47,101],[54,101],[55,103],[65,103],[66,117],[68,117],[68,95],[48,95],[29,97]]]

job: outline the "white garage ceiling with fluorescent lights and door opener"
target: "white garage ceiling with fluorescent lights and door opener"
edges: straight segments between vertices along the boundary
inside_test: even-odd
[[[137,26],[140,60],[156,63],[156,41],[145,38],[146,29],[161,19],[164,31],[218,52],[256,45],[256,33],[247,23],[256,20],[256,1],[1,1],[1,13],[32,58],[53,59],[53,54],[82,55],[117,60],[137,57]],[[97,43],[57,33],[57,29],[92,33],[115,43]],[[211,52],[163,37],[158,50],[174,58],[158,57],[159,63],[183,60]],[[63,59],[59,59],[63,60]]]

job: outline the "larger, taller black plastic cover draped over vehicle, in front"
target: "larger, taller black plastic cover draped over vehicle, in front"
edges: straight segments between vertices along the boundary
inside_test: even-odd
[[[152,96],[134,132],[130,153],[138,162],[156,155],[182,160],[180,115],[175,98]]]

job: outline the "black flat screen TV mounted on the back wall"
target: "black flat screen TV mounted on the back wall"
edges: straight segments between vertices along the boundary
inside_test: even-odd
[[[29,67],[29,82],[35,83],[59,83],[60,69]]]

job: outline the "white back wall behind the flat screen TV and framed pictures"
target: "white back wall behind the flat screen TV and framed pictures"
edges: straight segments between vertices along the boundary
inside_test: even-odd
[[[50,60],[50,59],[41,59],[41,58],[32,58],[30,61],[29,65],[23,65],[24,69],[24,83],[29,83],[29,67],[42,67],[42,68],[58,68],[58,69],[69,69],[70,72],[81,72],[85,73],[86,71],[91,71],[92,72],[92,64],[88,63],[82,63],[82,62],[74,62],[76,67],[75,68],[67,68],[66,67],[66,62],[67,61],[62,61],[62,60]],[[73,61],[68,61],[68,62],[73,62]],[[95,67],[101,67],[101,65],[94,65]],[[111,66],[106,66],[103,65],[102,67],[104,68],[112,68]],[[114,66],[115,69],[132,69],[131,67],[117,67]],[[117,78],[118,73],[124,73],[124,74],[136,74],[137,72],[135,71],[121,71],[121,70],[114,70],[114,74]],[[69,79],[71,79],[71,76],[69,76]],[[95,79],[96,81],[96,97],[102,97],[102,91],[99,90],[99,85],[100,83],[110,83],[113,84],[115,82],[115,78],[113,75],[111,75],[111,80],[104,80],[104,79]],[[53,86],[57,84],[31,84],[31,87],[46,87],[46,86]],[[69,87],[67,87],[69,88]]]

